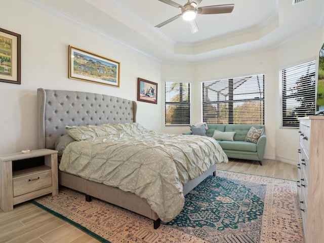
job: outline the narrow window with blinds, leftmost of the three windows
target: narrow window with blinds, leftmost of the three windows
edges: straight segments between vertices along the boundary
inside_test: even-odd
[[[166,125],[190,124],[190,83],[166,82]]]

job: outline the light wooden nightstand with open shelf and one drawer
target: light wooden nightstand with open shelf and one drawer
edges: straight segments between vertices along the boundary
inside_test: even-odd
[[[44,165],[33,165],[32,158],[37,157],[44,157]],[[24,169],[13,171],[16,162],[24,164]],[[30,153],[0,155],[0,190],[0,208],[4,212],[13,210],[14,205],[23,201],[58,194],[57,151],[37,149]]]

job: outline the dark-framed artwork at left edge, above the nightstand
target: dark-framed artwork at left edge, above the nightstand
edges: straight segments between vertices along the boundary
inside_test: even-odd
[[[21,35],[0,28],[0,81],[20,85]]]

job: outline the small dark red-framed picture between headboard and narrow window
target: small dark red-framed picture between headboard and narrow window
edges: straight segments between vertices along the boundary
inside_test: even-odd
[[[157,104],[157,84],[138,77],[137,100]]]

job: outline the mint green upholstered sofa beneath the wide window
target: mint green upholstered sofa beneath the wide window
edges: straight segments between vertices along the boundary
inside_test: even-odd
[[[248,125],[248,124],[207,124],[208,129],[206,135],[213,137],[214,131],[221,132],[235,132],[233,141],[216,140],[223,148],[227,157],[229,158],[241,158],[249,160],[258,160],[262,166],[262,160],[264,156],[266,136],[264,125]],[[258,139],[257,143],[245,142],[245,138],[251,127],[256,129],[263,128],[263,133]],[[191,132],[183,133],[184,135],[191,135]]]

